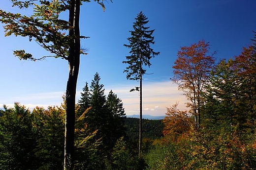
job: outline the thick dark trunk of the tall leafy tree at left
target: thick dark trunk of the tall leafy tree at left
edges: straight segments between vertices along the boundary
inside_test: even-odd
[[[75,128],[75,95],[80,64],[80,31],[79,31],[80,0],[70,0],[69,30],[70,42],[68,53],[69,74],[66,85],[66,116],[64,170],[72,170],[74,166],[74,128]]]

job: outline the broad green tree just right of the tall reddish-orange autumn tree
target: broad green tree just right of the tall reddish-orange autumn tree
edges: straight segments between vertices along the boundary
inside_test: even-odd
[[[230,126],[243,125],[246,115],[239,106],[242,83],[237,76],[237,70],[234,69],[233,60],[227,62],[222,60],[213,69],[209,81],[208,96],[204,106],[205,119]]]

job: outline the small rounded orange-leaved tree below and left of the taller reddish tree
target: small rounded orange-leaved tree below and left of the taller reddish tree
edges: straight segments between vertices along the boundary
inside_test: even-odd
[[[178,103],[167,108],[166,116],[162,121],[164,124],[163,135],[172,138],[175,142],[177,142],[177,139],[182,134],[189,131],[191,128],[191,119],[188,111],[180,111],[177,106]]]

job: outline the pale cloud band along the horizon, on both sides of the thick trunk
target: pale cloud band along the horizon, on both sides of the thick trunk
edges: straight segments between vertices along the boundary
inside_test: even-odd
[[[139,92],[129,92],[130,89],[137,86],[137,83],[119,84],[119,85],[107,85],[105,86],[106,95],[112,89],[119,98],[122,99],[124,108],[127,115],[139,114]],[[143,114],[149,115],[164,115],[166,107],[170,107],[176,102],[179,102],[179,109],[185,110],[187,102],[186,97],[182,95],[182,92],[177,90],[176,84],[170,81],[163,82],[143,82]],[[80,92],[77,92],[77,99],[80,98]],[[63,100],[62,96],[64,92],[48,92],[38,94],[26,94],[23,96],[10,97],[8,100],[3,101],[0,99],[0,107],[5,104],[12,107],[14,102],[20,102],[28,108],[34,108],[36,106],[47,108],[51,105],[60,105]]]

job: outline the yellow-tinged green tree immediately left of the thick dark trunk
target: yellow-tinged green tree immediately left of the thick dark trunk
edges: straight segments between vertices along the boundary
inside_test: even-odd
[[[64,157],[65,111],[63,108],[36,107],[32,111],[36,133],[35,157],[38,169],[62,170]],[[41,163],[44,164],[41,164]]]

